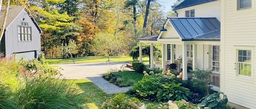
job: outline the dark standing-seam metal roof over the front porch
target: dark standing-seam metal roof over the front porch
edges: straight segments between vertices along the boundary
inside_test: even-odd
[[[181,36],[183,41],[188,40],[216,40],[219,41],[221,23],[215,17],[173,17],[168,18]],[[167,25],[168,26],[168,25]]]

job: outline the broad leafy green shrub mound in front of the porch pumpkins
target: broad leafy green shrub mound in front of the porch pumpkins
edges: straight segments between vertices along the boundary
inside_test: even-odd
[[[149,75],[134,84],[135,95],[151,101],[168,101],[190,98],[190,92],[178,84],[178,79],[172,79],[163,74]]]

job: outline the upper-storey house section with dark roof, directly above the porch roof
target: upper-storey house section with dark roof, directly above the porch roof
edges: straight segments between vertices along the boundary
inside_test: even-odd
[[[221,21],[221,0],[185,0],[174,10],[177,17],[216,17]]]

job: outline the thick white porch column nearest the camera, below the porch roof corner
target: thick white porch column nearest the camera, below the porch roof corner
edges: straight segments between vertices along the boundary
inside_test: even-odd
[[[184,43],[182,45],[182,80],[187,80],[188,79],[188,70],[187,70],[187,65],[188,65],[188,61],[187,61],[187,44]]]

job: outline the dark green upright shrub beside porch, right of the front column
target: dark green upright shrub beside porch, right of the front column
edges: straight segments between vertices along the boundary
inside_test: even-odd
[[[208,95],[211,91],[211,70],[193,70],[192,86],[193,90],[198,93]]]

